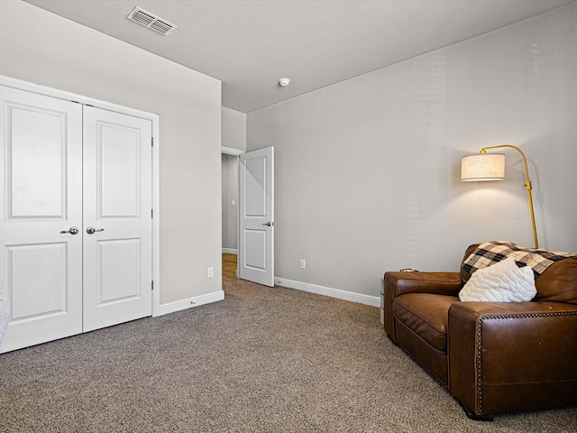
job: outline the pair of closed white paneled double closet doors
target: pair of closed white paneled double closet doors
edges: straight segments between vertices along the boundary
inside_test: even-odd
[[[0,86],[2,351],[151,315],[151,121]]]

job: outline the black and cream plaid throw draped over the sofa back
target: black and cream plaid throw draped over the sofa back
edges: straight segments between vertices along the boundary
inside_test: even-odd
[[[461,265],[463,271],[473,272],[513,257],[519,268],[530,266],[535,278],[545,272],[550,265],[568,257],[577,257],[574,253],[550,251],[545,249],[525,248],[507,241],[493,241],[479,245]]]

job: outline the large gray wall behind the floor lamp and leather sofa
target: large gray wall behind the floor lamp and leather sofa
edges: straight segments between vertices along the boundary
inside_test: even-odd
[[[388,270],[532,246],[517,152],[505,181],[459,178],[503,143],[527,154],[541,246],[576,252],[575,41],[572,4],[249,114],[248,150],[275,146],[276,276],[378,296]]]

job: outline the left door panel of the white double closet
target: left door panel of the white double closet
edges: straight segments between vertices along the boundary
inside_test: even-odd
[[[82,332],[82,106],[3,86],[0,104],[7,352]]]

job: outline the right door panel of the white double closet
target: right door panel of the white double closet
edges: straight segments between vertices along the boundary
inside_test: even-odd
[[[84,112],[84,331],[151,316],[152,124]]]

